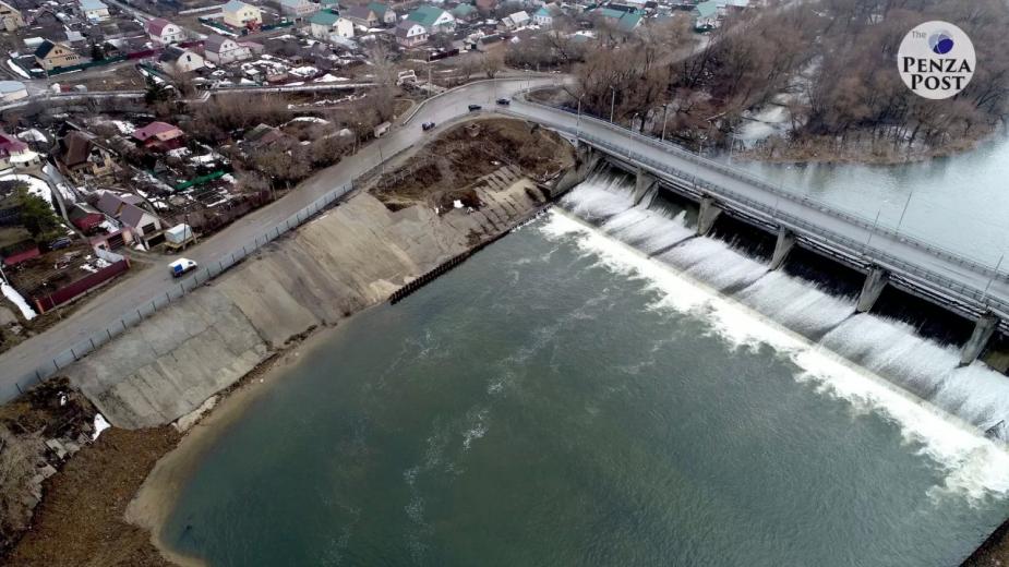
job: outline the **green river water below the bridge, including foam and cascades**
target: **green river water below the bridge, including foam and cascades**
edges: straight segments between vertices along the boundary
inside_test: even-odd
[[[945,566],[1009,515],[1009,378],[632,188],[593,177],[327,331],[163,540],[214,566]]]

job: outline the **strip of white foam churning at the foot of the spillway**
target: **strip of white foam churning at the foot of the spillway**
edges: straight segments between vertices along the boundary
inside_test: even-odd
[[[893,421],[906,443],[941,468],[944,484],[930,491],[932,496],[950,493],[975,499],[1009,493],[1009,450],[960,418],[566,213],[555,210],[540,230],[548,238],[573,239],[599,264],[647,281],[661,295],[651,309],[697,316],[733,348],[771,347],[800,369],[797,382],[815,384],[817,391]]]

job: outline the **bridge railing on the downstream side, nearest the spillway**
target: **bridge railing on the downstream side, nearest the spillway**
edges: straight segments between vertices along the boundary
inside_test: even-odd
[[[950,291],[961,297],[974,300],[981,306],[990,306],[1001,311],[1002,313],[1009,313],[1009,303],[1006,303],[998,298],[993,298],[985,291],[978,290],[971,286],[964,286],[961,282],[954,281],[940,274],[936,274],[930,269],[923,268],[916,264],[901,260],[893,254],[879,250],[878,248],[874,248],[867,243],[856,241],[842,234],[838,234],[837,232],[827,230],[805,219],[784,213],[777,207],[768,206],[766,203],[755,201],[732,190],[716,185],[699,179],[695,174],[692,174],[687,171],[683,171],[682,169],[669,166],[648,156],[632,152],[625,147],[621,147],[600,137],[584,133],[578,134],[578,137],[616,156],[629,159],[654,171],[677,178],[685,183],[689,183],[690,185],[702,190],[702,192],[710,193],[721,198],[726,198],[731,202],[743,205],[745,208],[750,210],[762,213],[800,234],[805,234],[807,237],[819,237],[830,242],[831,244],[844,246],[853,256],[864,255],[870,258],[873,263],[879,264],[885,268],[889,268],[891,270],[903,273],[904,275],[932,282],[937,286],[937,289],[935,290],[937,293],[942,293],[942,291]],[[994,276],[990,270],[989,275]]]

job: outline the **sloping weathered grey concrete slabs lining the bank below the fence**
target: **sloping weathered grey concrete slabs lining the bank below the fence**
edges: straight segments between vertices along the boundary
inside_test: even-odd
[[[317,326],[376,304],[500,236],[542,202],[531,182],[477,188],[478,210],[392,212],[359,193],[67,369],[121,427],[169,423]],[[155,268],[157,269],[157,268]]]

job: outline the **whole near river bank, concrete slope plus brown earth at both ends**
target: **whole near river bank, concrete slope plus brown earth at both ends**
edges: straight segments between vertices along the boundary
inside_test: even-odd
[[[74,459],[81,465],[68,465],[65,474],[48,481],[39,515],[11,555],[15,565],[51,565],[53,557],[81,559],[74,564],[191,563],[168,552],[163,557],[143,529],[170,510],[171,488],[148,490],[127,507],[148,473],[155,471],[152,485],[178,486],[214,435],[278,375],[269,369],[297,358],[307,337],[507,232],[546,202],[533,179],[574,162],[573,148],[560,137],[518,121],[470,121],[437,140],[452,150],[433,159],[441,174],[435,191],[411,188],[395,206],[384,203],[396,193],[388,179],[403,181],[419,164],[432,164],[430,156],[415,155],[419,148],[397,156],[372,186],[67,369],[72,384],[121,429],[107,434],[112,441],[103,436],[85,447],[84,457]],[[479,147],[468,149],[473,143]],[[508,148],[536,155],[509,155]],[[468,153],[497,157],[452,159]],[[208,401],[221,398],[217,408]],[[188,433],[182,437],[168,423],[184,424]],[[155,467],[180,437],[188,457]],[[87,498],[73,498],[85,487]],[[67,554],[67,545],[74,553]],[[130,553],[117,555],[119,548]]]

